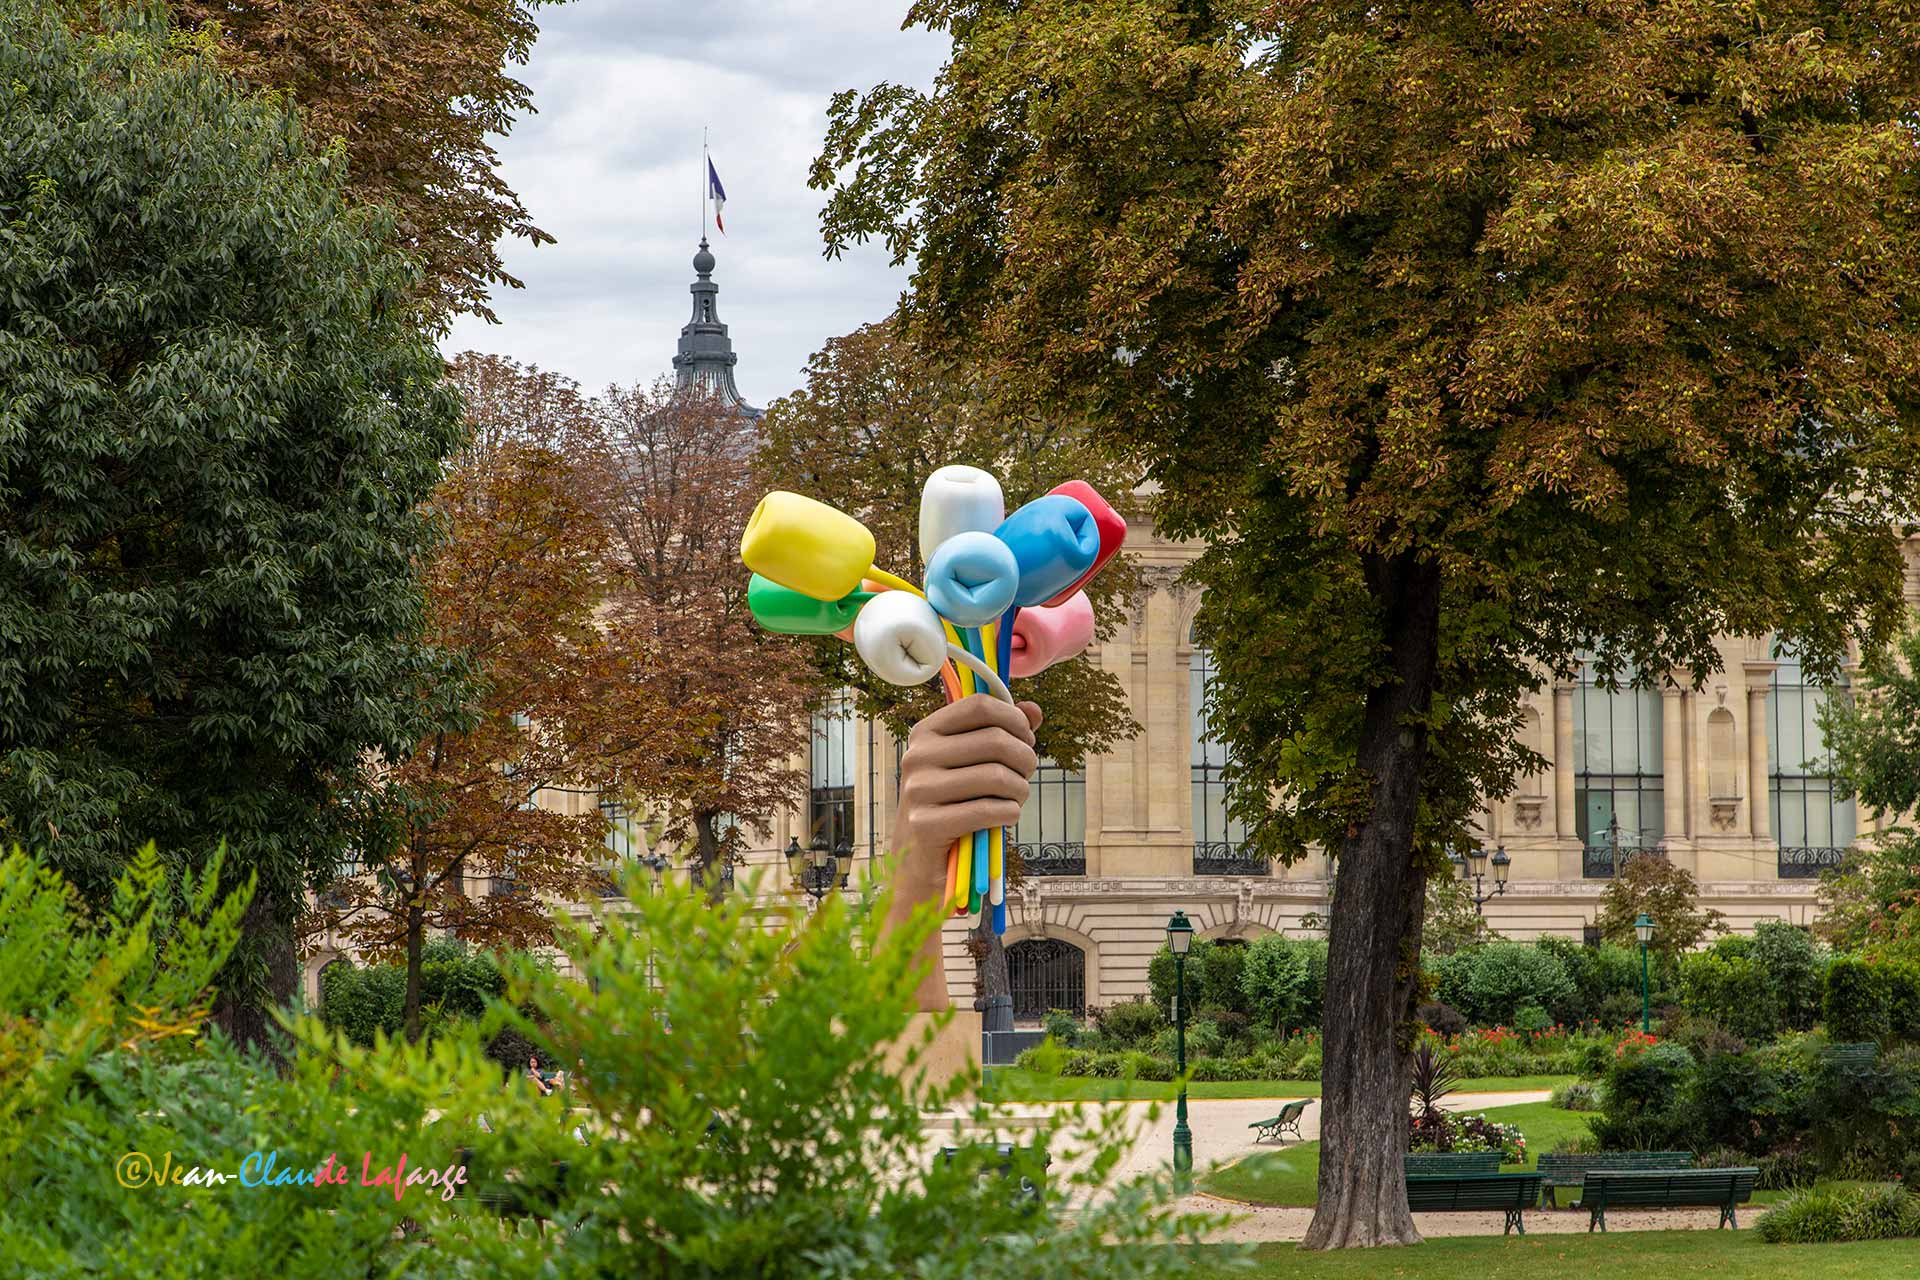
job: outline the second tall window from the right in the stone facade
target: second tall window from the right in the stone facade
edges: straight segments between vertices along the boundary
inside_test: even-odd
[[[1661,770],[1661,693],[1597,683],[1592,662],[1580,664],[1572,695],[1574,829],[1586,844],[1586,875],[1613,875],[1613,823],[1620,848],[1651,848],[1667,837]]]

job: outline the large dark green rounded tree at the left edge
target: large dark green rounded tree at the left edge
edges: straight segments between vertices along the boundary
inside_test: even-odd
[[[4,6],[0,83],[0,816],[94,900],[225,839],[217,1013],[259,1040],[453,683],[417,570],[459,401],[384,215],[157,13]]]

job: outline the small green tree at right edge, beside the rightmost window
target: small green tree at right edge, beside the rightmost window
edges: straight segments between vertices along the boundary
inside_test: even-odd
[[[1843,950],[1920,961],[1920,618],[1866,654],[1853,699],[1828,699],[1820,727],[1834,771],[1887,823],[1822,877],[1820,935]]]

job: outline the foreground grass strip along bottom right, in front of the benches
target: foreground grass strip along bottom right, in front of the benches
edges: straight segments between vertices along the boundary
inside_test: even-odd
[[[1204,1249],[1202,1249],[1204,1257]],[[1920,1242],[1763,1244],[1740,1232],[1613,1232],[1611,1236],[1461,1236],[1413,1249],[1300,1253],[1261,1245],[1254,1270],[1190,1274],[1286,1276],[1286,1280],[1542,1280],[1584,1274],[1603,1280],[1903,1280],[1920,1278]]]

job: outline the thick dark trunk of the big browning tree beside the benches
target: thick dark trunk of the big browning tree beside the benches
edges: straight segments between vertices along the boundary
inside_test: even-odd
[[[1427,877],[1413,871],[1413,816],[1438,664],[1440,572],[1411,555],[1365,568],[1394,672],[1367,695],[1357,766],[1373,783],[1371,812],[1340,846],[1332,896],[1319,1205],[1306,1249],[1421,1240],[1402,1155],[1427,896]]]

